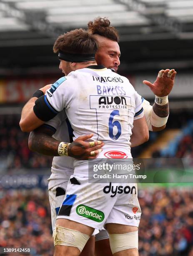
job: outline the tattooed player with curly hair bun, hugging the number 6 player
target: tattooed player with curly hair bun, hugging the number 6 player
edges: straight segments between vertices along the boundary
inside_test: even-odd
[[[88,23],[88,32],[94,34],[99,43],[99,48],[95,55],[95,59],[97,63],[103,64],[105,67],[111,68],[113,69],[114,72],[117,72],[118,66],[120,65],[120,60],[119,60],[120,49],[118,46],[119,36],[116,29],[110,26],[110,21],[108,19],[97,18],[95,19],[94,22]],[[56,46],[57,45],[55,45],[54,47],[54,51],[57,51]],[[60,69],[62,69],[64,72],[64,67],[61,64],[61,62],[60,62]],[[173,87],[173,81],[174,81],[176,72],[174,72],[174,70],[171,70],[168,74],[168,71],[169,70],[166,70],[165,72],[161,71],[158,75],[158,78],[154,82],[154,84],[150,84],[150,82],[144,81],[144,83],[147,84],[153,90],[153,92],[155,92],[158,96],[162,96],[160,92],[161,91],[163,92],[164,90],[165,90],[165,94],[169,94],[170,90]],[[44,93],[46,89],[48,89],[48,87],[41,88],[41,90]],[[163,100],[164,99],[165,98],[163,97]],[[158,105],[154,103],[152,108],[152,106],[150,106],[148,102],[143,100],[143,108],[144,108],[146,122],[148,123],[148,128],[150,131],[152,130],[159,131],[165,128],[165,123],[168,117],[167,102],[165,105],[163,104]],[[154,116],[154,114],[152,114],[153,112],[157,113],[157,116],[156,116],[157,119],[154,118],[155,120],[153,120],[153,116]],[[155,126],[152,125],[152,123]],[[66,132],[64,133],[64,131]],[[50,198],[50,207],[52,212],[53,229],[54,229],[54,223],[56,218],[56,209],[60,207],[63,201],[68,179],[70,175],[73,173],[73,166],[71,166],[72,167],[71,168],[68,165],[70,158],[66,156],[61,160],[61,157],[58,156],[58,146],[60,141],[64,140],[66,142],[70,142],[70,137],[72,137],[72,131],[70,131],[70,133],[68,133],[68,131],[70,131],[70,128],[69,128],[69,123],[66,119],[66,116],[64,115],[64,113],[63,114],[60,113],[55,118],[53,118],[53,120],[48,121],[46,125],[42,125],[35,131],[31,132],[29,137],[29,146],[31,150],[37,151],[40,154],[55,156],[53,159],[52,174],[49,179],[49,198]],[[138,131],[136,130],[135,132],[135,126],[132,131],[133,131],[133,136],[131,136],[131,146],[137,146],[139,145],[137,141]],[[85,139],[91,138],[91,136],[92,135],[90,135],[90,137],[84,136],[83,138],[80,138],[80,137],[77,138],[77,140],[73,142],[73,143],[76,143],[77,141],[76,145],[73,146],[73,143],[71,143],[72,146],[68,147],[68,155],[73,156],[77,159],[88,159],[90,156],[90,151],[88,151],[88,149],[91,150],[91,148],[89,143],[86,142]],[[98,149],[101,146],[103,146],[103,143],[101,144],[98,144],[98,143],[100,142],[95,141],[95,145],[97,145],[98,147],[98,148],[95,148],[95,154],[98,154],[100,152],[98,151]],[[58,165],[59,169],[57,169],[55,168],[56,167],[55,162],[59,161],[59,159],[60,159],[60,165]],[[58,191],[60,191],[60,193]],[[95,239],[97,241],[95,243],[95,255],[97,256],[104,255],[104,254],[106,256],[112,255],[110,251],[110,246],[109,246],[108,233],[105,230],[101,230],[100,233],[96,235]],[[81,255],[84,255],[84,250],[86,249],[86,246],[83,249]],[[89,246],[91,245],[88,244],[88,247]],[[101,248],[103,249],[101,250]],[[88,250],[90,249],[88,248]],[[91,254],[88,254],[88,251],[85,250],[85,255],[91,255]]]

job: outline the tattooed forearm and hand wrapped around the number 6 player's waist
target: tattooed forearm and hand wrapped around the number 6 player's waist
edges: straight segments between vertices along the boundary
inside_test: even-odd
[[[54,131],[42,125],[30,133],[28,145],[31,151],[47,156],[59,156],[58,146],[61,141],[53,138]],[[68,146],[68,156],[79,160],[95,159],[100,153],[99,149],[104,143],[95,141],[93,147],[85,141],[93,137],[93,134],[78,137]],[[100,143],[100,144],[99,144]],[[95,151],[96,156],[90,156],[90,152]]]

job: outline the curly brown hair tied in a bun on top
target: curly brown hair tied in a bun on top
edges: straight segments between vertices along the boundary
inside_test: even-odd
[[[110,26],[110,20],[107,18],[96,18],[94,21],[88,22],[88,32],[91,34],[98,34],[109,38],[112,41],[119,42],[119,34],[116,28]]]

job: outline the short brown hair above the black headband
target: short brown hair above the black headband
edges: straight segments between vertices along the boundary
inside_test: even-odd
[[[97,49],[97,39],[83,28],[58,36],[53,46],[54,53],[65,51],[70,54],[95,54]]]

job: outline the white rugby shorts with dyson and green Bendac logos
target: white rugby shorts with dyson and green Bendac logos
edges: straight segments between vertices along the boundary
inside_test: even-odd
[[[70,180],[57,219],[73,220],[98,230],[106,223],[139,226],[141,209],[136,183],[88,183],[88,177],[78,175],[72,175]]]

